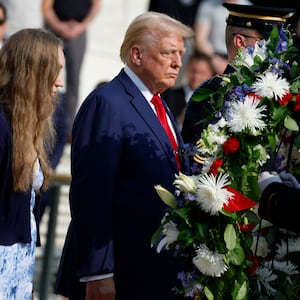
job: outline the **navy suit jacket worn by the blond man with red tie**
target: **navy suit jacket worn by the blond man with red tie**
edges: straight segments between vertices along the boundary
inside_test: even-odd
[[[154,186],[174,189],[176,160],[157,116],[123,70],[84,101],[72,140],[72,220],[56,291],[84,299],[80,277],[113,272],[118,300],[175,299],[179,266],[150,241],[166,208]]]

